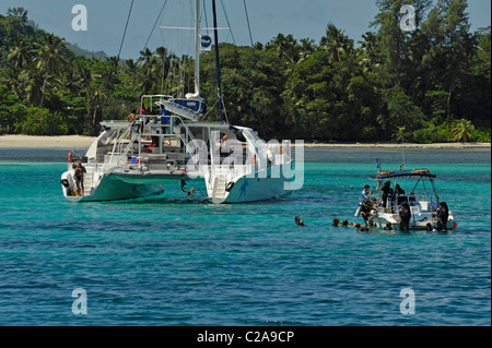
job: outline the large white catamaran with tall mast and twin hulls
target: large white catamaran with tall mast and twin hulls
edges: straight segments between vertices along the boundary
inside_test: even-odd
[[[293,184],[298,171],[292,169],[290,142],[267,144],[250,128],[222,122],[221,97],[221,121],[200,121],[206,105],[199,89],[198,0],[195,7],[195,93],[145,95],[132,122],[101,122],[103,132],[86,154],[69,154],[61,176],[68,201],[148,197],[163,193],[166,184],[184,187],[190,180],[204,180],[213,203],[270,200],[302,187]],[[221,96],[219,63],[218,89]]]

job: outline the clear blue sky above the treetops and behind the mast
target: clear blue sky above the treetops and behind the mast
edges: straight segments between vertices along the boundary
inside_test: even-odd
[[[152,32],[157,15],[166,0],[133,0],[126,38],[120,57],[138,58],[140,50]],[[180,0],[189,3],[190,0]],[[159,25],[166,25],[165,19],[174,16],[176,3],[168,0]],[[202,0],[200,0],[202,3]],[[211,0],[206,0],[209,23],[211,23]],[[491,25],[491,1],[468,0],[468,13],[471,29]],[[75,4],[83,4],[87,10],[87,29],[73,31],[72,13]],[[173,7],[174,4],[174,7]],[[250,37],[246,21],[244,0],[216,0],[219,27],[226,27],[227,14],[234,43],[249,46]],[[30,20],[39,28],[63,37],[68,43],[91,51],[105,51],[108,56],[117,56],[125,32],[131,0],[0,0],[0,14],[5,15],[9,8],[23,7],[28,11]],[[247,13],[254,43],[266,44],[279,33],[292,34],[296,39],[311,38],[316,43],[326,32],[328,23],[358,41],[371,31],[370,23],[377,13],[376,0],[246,0]],[[186,11],[185,11],[186,12]],[[209,24],[211,25],[211,24]],[[149,41],[152,50],[165,46],[165,32],[156,28]],[[164,34],[163,34],[164,33]],[[227,31],[220,32],[220,41],[233,43]]]

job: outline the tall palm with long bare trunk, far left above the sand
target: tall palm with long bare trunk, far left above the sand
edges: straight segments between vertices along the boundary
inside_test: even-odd
[[[37,55],[36,68],[44,73],[42,87],[42,96],[39,107],[43,108],[45,103],[46,86],[55,73],[58,73],[68,63],[68,59],[62,51],[65,39],[58,38],[52,34],[45,34],[43,44],[35,44],[38,48],[34,50]]]

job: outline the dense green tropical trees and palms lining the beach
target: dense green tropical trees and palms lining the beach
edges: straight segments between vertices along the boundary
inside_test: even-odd
[[[490,27],[470,32],[466,0],[413,0],[417,29],[403,32],[408,2],[376,0],[374,32],[356,44],[332,24],[318,44],[283,34],[255,47],[221,44],[227,120],[266,139],[490,142]],[[138,60],[75,51],[24,9],[0,15],[0,131],[96,134],[143,94],[194,89],[192,59],[164,47]],[[213,50],[200,59],[207,119],[218,120]]]

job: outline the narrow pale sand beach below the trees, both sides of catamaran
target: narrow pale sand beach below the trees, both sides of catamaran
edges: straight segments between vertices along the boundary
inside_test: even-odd
[[[89,148],[96,136],[83,135],[0,135],[0,148]],[[295,142],[292,142],[295,146]],[[305,148],[491,148],[491,143],[304,143]]]

